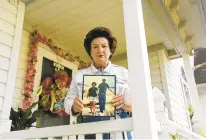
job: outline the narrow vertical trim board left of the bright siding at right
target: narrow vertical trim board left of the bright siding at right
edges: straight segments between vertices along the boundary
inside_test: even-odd
[[[164,96],[166,98],[166,107],[168,109],[169,119],[173,120],[172,106],[170,103],[169,84],[168,84],[167,71],[166,71],[166,62],[165,62],[166,56],[164,57],[164,55],[165,55],[164,50],[158,51],[161,78],[162,78],[162,86],[163,86]]]

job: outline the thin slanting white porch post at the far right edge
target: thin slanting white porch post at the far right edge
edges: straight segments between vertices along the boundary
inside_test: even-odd
[[[188,82],[188,88],[189,88],[189,95],[192,102],[192,105],[194,107],[194,117],[200,121],[199,124],[201,124],[202,127],[206,127],[206,118],[203,114],[203,110],[200,104],[198,91],[194,79],[194,73],[193,69],[190,63],[189,55],[187,53],[184,53],[182,55],[183,61],[184,61],[184,68],[185,68],[185,74]]]

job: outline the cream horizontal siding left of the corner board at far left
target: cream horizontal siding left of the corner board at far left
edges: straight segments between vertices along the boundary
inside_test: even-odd
[[[0,1],[0,115],[8,81],[17,7],[8,0]]]

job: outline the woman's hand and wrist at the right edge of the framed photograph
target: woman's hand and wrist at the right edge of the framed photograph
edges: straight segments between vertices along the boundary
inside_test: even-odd
[[[125,100],[122,96],[120,95],[115,95],[112,99],[112,104],[115,106],[117,109],[124,109],[127,112],[132,112],[132,104],[131,102],[125,103]]]

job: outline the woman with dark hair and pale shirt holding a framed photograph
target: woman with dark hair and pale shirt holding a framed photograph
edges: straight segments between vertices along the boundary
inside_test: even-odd
[[[114,96],[112,103],[117,109],[117,114],[120,114],[120,112],[131,112],[132,106],[130,104],[131,96],[128,88],[128,71],[121,66],[112,64],[110,61],[117,47],[117,40],[112,36],[111,31],[105,27],[92,29],[84,39],[84,47],[92,59],[92,64],[90,67],[82,69],[74,75],[70,91],[64,102],[66,112],[72,115],[78,115],[82,112],[83,75],[116,75],[117,94]],[[98,120],[99,118],[100,120]],[[108,119],[109,117],[93,117],[91,119],[86,118],[84,122]],[[108,139],[109,137],[105,136],[104,138]]]

